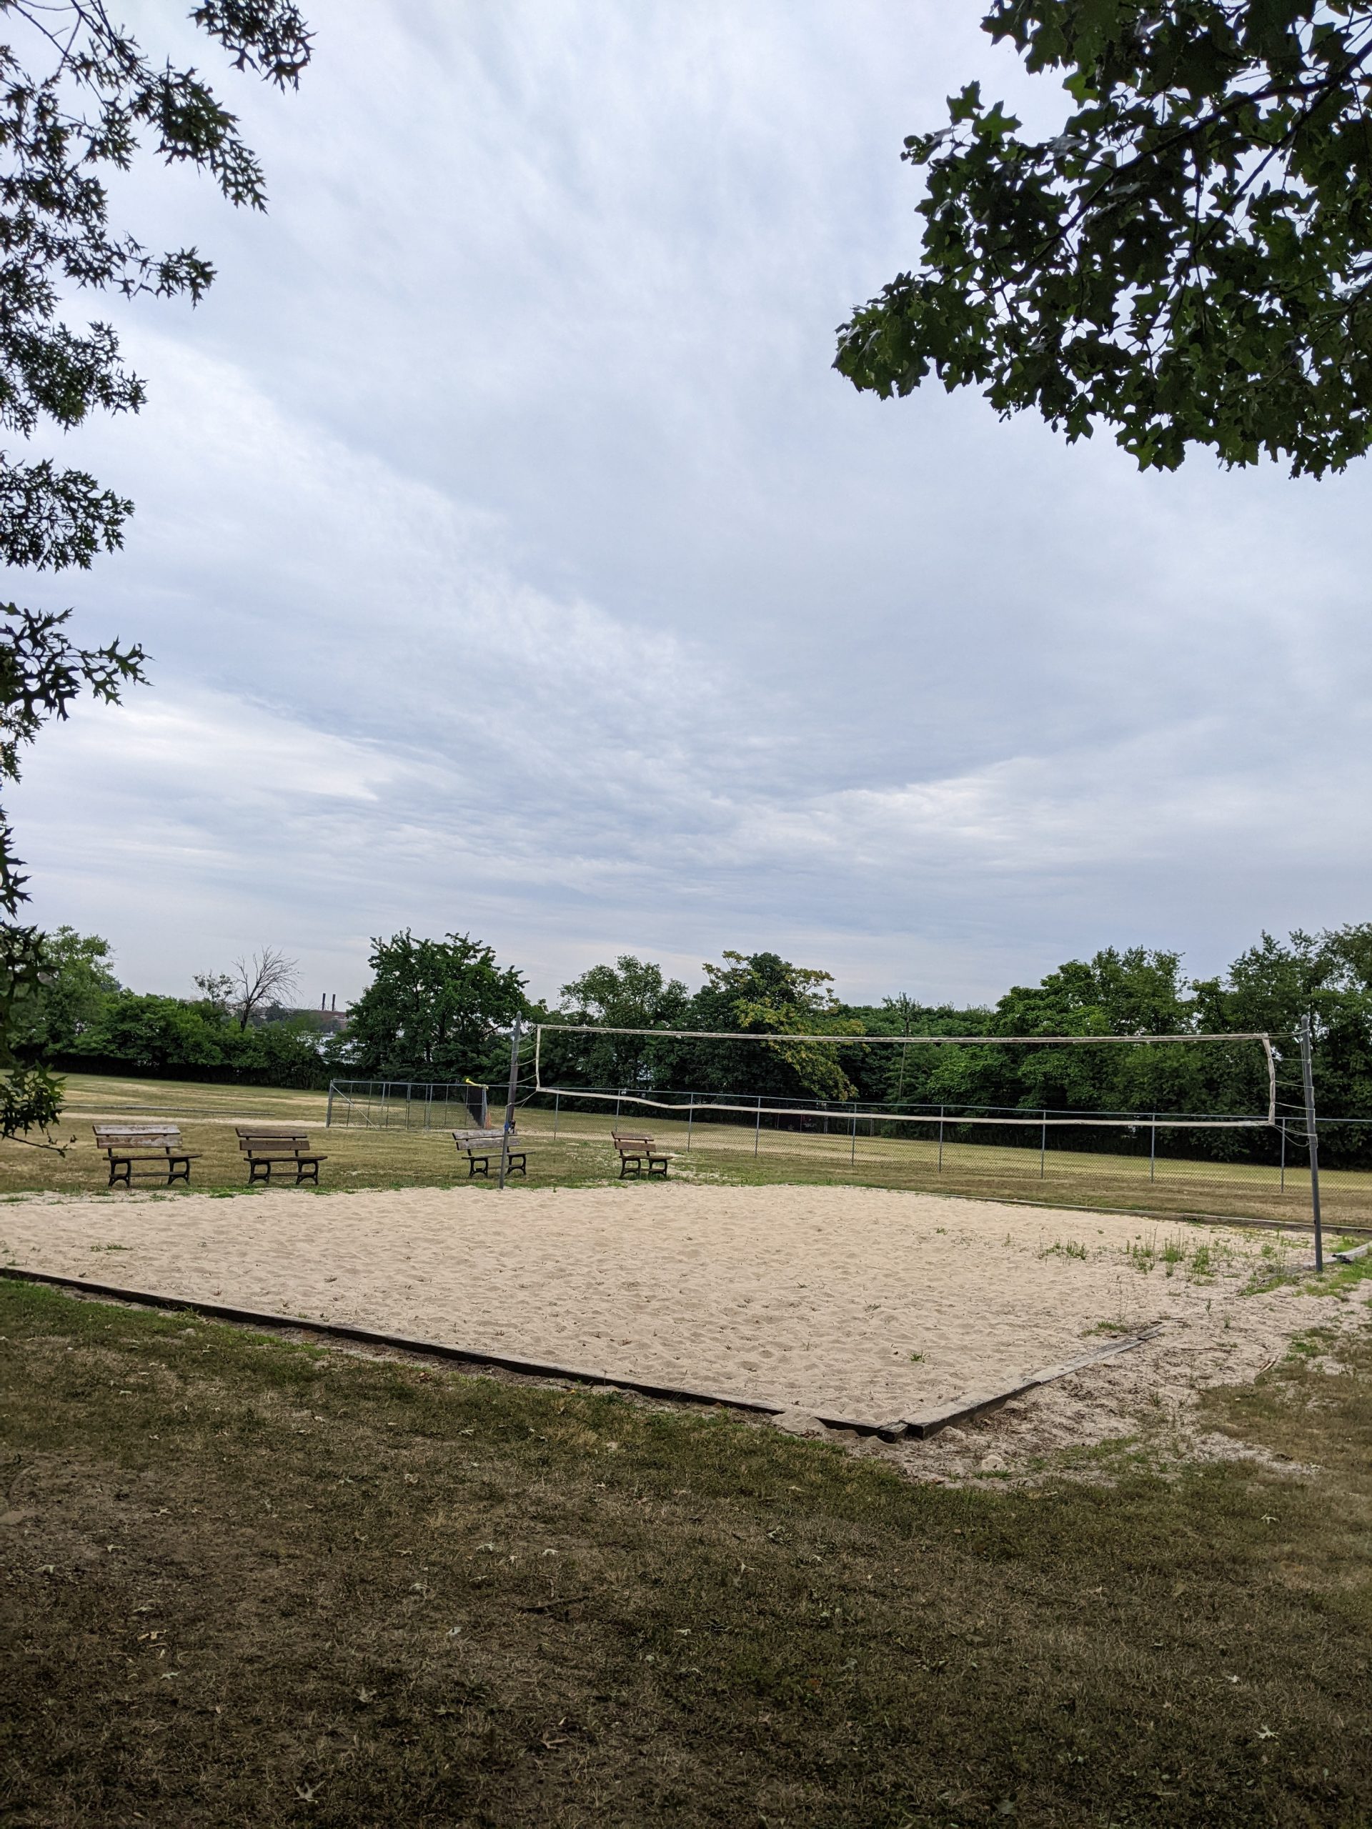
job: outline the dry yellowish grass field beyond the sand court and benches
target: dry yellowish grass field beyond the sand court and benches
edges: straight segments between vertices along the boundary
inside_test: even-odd
[[[181,1125],[187,1145],[201,1152],[194,1185],[241,1187],[247,1180],[232,1134],[234,1121],[291,1123],[318,1132],[329,1161],[322,1182],[331,1187],[432,1187],[466,1174],[446,1130],[335,1128],[324,1132],[326,1097],[320,1092],[207,1086],[177,1081],[117,1081],[71,1075],[62,1136],[73,1143],[64,1156],[22,1143],[0,1143],[0,1191],[97,1191],[106,1182],[104,1160],[90,1134],[93,1118],[155,1116]],[[496,1110],[496,1121],[501,1114]],[[642,1123],[642,1118],[633,1119]],[[532,1185],[585,1185],[616,1174],[609,1145],[613,1110],[604,1116],[523,1108],[520,1130],[531,1143]],[[735,1125],[688,1130],[679,1119],[653,1118],[653,1134],[677,1152],[673,1174],[732,1183],[849,1183],[911,1187],[982,1198],[1032,1200],[1048,1205],[1112,1207],[1158,1214],[1213,1213],[1302,1224],[1310,1216],[1308,1176],[1242,1163],[1160,1160],[1156,1176],[1140,1156],[1083,1154],[1048,1149],[1001,1149],[948,1143],[938,1160],[935,1141],[907,1138],[856,1139],[754,1132]],[[1039,1172],[1043,1169],[1043,1172]],[[1324,1172],[1324,1209],[1332,1224],[1372,1227],[1372,1174]]]

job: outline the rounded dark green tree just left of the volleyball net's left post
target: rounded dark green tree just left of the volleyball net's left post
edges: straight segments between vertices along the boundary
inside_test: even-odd
[[[373,940],[371,984],[349,1010],[348,1059],[362,1077],[488,1079],[498,1037],[527,1004],[523,977],[470,935]]]

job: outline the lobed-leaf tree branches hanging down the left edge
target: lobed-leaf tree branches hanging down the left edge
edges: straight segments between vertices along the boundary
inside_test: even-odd
[[[309,35],[291,0],[205,0],[190,18],[234,68],[293,88]],[[95,0],[0,0],[16,42],[0,46],[0,432],[71,432],[91,412],[137,412],[145,384],[110,324],[66,320],[64,291],[199,300],[214,269],[192,249],[150,252],[110,225],[106,174],[146,150],[192,165],[229,203],[262,209],[262,168],[234,115],[194,68],[148,57]],[[123,543],[132,503],[86,470],[0,452],[0,563],[90,567]],[[70,611],[0,604],[0,779],[22,748],[91,691],[117,701],[145,677],[141,646],[82,647]],[[13,832],[0,814],[0,1132],[46,1127],[60,1108],[51,1074],[16,1048],[33,1026],[42,938],[18,920],[27,900]]]

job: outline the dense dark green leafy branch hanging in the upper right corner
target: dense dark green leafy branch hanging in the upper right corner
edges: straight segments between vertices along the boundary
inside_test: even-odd
[[[993,0],[1061,71],[1043,139],[979,84],[906,141],[922,265],[840,327],[836,368],[935,375],[1002,415],[1114,433],[1149,468],[1341,470],[1372,441],[1372,7],[1365,0]]]

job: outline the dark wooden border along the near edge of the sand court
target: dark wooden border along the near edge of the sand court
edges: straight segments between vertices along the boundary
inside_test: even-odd
[[[805,1410],[799,1405],[770,1403],[763,1397],[743,1397],[737,1392],[691,1390],[690,1386],[659,1385],[648,1379],[624,1377],[616,1372],[591,1372],[585,1366],[545,1364],[536,1359],[516,1359],[510,1353],[490,1353],[470,1346],[448,1346],[443,1341],[417,1341],[406,1333],[381,1333],[375,1328],[355,1328],[342,1321],[307,1321],[302,1315],[274,1315],[267,1310],[234,1308],[227,1302],[205,1302],[185,1295],[161,1295],[152,1289],[124,1289],[119,1284],[90,1282],[86,1277],[57,1277],[51,1271],[20,1269],[11,1264],[0,1266],[0,1277],[9,1278],[11,1282],[37,1282],[49,1289],[64,1289],[75,1295],[101,1295],[115,1302],[128,1302],[135,1308],[165,1308],[174,1310],[176,1313],[205,1315],[214,1321],[232,1321],[240,1326],[267,1328],[274,1333],[289,1332],[318,1335],[326,1341],[355,1341],[362,1346],[388,1346],[393,1352],[412,1353],[419,1359],[446,1359],[454,1364],[466,1366],[496,1366],[501,1372],[516,1372],[521,1377],[571,1379],[576,1385],[609,1385],[615,1390],[631,1390],[640,1397],[659,1397],[668,1403],[702,1403],[726,1410],[745,1410],[752,1416],[766,1417],[807,1416],[814,1417],[816,1423],[823,1423],[825,1428],[845,1428],[854,1436],[880,1436],[884,1441],[900,1441],[904,1436],[915,1436],[924,1441],[929,1436],[937,1436],[942,1428],[949,1428],[953,1423],[970,1423],[977,1416],[999,1410],[1001,1405],[1010,1403],[1012,1397],[1023,1397],[1032,1390],[1039,1390],[1043,1385],[1052,1385],[1056,1379],[1067,1377],[1070,1372],[1083,1372],[1087,1366],[1098,1364],[1101,1359],[1114,1359],[1118,1353],[1132,1352],[1134,1346],[1145,1346],[1162,1333],[1162,1324],[1145,1328],[1143,1333],[1109,1341],[1105,1346],[1098,1346],[1094,1352],[1083,1353],[1079,1359],[1068,1359],[1065,1364],[1057,1366],[1045,1366],[1043,1372],[1030,1372],[1028,1375],[1015,1379],[1013,1385],[1004,1386],[1004,1390],[981,1392],[971,1397],[955,1397],[951,1403],[938,1405],[933,1410],[922,1410],[916,1416],[871,1423],[852,1416],[821,1416],[818,1410]]]

